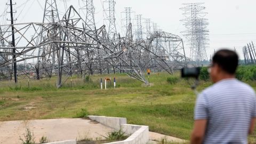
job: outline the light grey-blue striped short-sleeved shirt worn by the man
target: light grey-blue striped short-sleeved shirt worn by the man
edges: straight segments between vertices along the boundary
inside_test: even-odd
[[[197,97],[194,119],[207,119],[204,143],[247,143],[253,117],[255,92],[235,78],[223,79]]]

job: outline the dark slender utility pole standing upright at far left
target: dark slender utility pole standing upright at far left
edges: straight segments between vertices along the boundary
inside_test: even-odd
[[[12,25],[12,46],[13,46],[13,67],[14,67],[14,81],[18,83],[17,79],[17,63],[16,63],[16,49],[15,49],[15,36],[14,36],[14,26],[13,26],[13,10],[12,10],[12,0],[10,0],[10,7],[11,7],[11,25]]]

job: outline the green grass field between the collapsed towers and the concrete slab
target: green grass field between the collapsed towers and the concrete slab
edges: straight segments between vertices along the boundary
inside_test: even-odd
[[[100,90],[100,78],[116,77],[117,88]],[[126,117],[130,124],[148,125],[150,131],[189,139],[193,128],[196,95],[189,83],[179,79],[167,83],[167,73],[150,76],[152,86],[143,85],[125,74],[95,75],[90,81],[73,76],[56,89],[56,79],[23,79],[0,83],[0,121],[23,119],[74,118],[83,114]],[[178,74],[177,74],[178,77]],[[253,82],[250,82],[256,87]],[[112,84],[113,85],[113,84]],[[211,85],[201,82],[198,90]],[[253,137],[250,138],[254,140]]]

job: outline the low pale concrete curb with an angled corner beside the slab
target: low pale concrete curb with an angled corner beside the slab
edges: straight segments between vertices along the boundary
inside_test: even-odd
[[[149,127],[141,125],[126,124],[126,118],[106,117],[106,116],[88,116],[90,119],[103,125],[107,125],[116,130],[122,130],[125,134],[131,136],[123,141],[105,143],[105,144],[146,144],[149,141]]]

